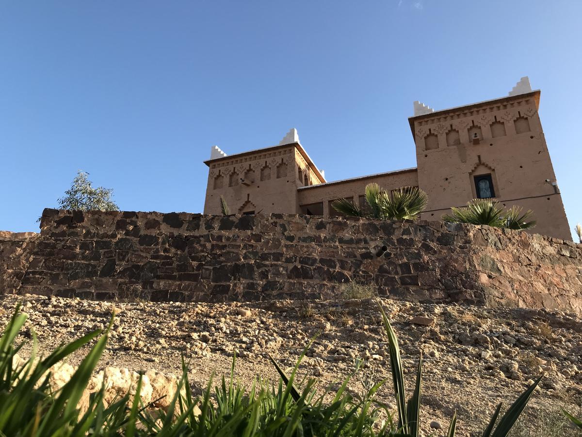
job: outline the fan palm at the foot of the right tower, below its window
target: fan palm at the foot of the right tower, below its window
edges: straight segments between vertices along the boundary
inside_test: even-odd
[[[491,199],[473,199],[462,208],[452,207],[450,214],[443,214],[442,220],[449,223],[486,224],[496,228],[509,228],[514,230],[531,229],[535,226],[535,220],[531,220],[533,211],[512,206],[503,209],[498,202]]]

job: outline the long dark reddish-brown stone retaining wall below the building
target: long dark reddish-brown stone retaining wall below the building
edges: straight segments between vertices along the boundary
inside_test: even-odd
[[[582,313],[581,260],[573,242],[441,222],[46,209],[40,234],[0,235],[0,293],[333,298],[357,280],[416,301]]]

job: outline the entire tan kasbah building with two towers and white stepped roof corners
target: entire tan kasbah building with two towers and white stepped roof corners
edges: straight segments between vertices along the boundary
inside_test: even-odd
[[[409,118],[416,145],[414,168],[328,182],[299,143],[295,129],[277,146],[226,155],[212,147],[205,214],[231,213],[338,216],[333,200],[364,205],[370,182],[391,191],[418,186],[428,195],[424,220],[441,220],[451,206],[492,198],[531,209],[529,231],[570,239],[570,228],[553,172],[538,107],[540,90],[527,77],[508,96],[435,111],[414,102]]]

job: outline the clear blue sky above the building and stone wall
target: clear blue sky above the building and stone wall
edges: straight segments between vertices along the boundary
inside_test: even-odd
[[[416,166],[414,100],[521,76],[582,221],[580,1],[0,2],[0,230],[33,231],[81,169],[123,210],[203,210],[212,145],[290,128],[328,180]]]

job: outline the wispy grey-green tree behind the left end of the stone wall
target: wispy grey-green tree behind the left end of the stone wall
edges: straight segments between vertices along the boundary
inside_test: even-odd
[[[89,181],[88,173],[77,171],[77,176],[73,179],[71,188],[65,191],[65,197],[58,200],[61,209],[71,210],[100,210],[116,211],[119,207],[111,200],[113,190],[98,186],[93,188]]]

